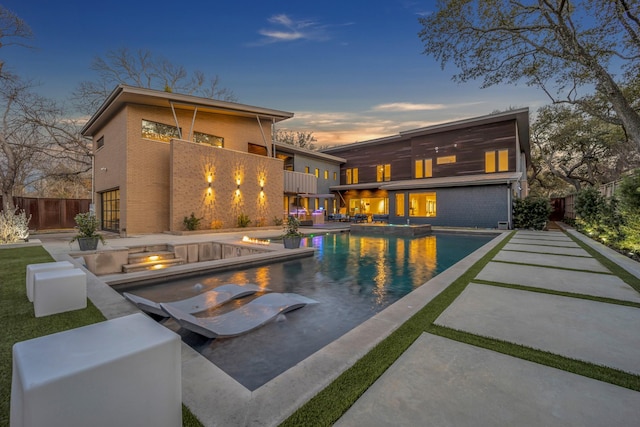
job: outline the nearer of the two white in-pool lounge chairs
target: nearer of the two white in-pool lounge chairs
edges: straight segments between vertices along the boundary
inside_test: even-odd
[[[317,301],[298,294],[272,293],[259,296],[243,307],[214,317],[195,317],[174,306],[160,304],[178,324],[207,338],[234,337],[252,331],[279,314],[287,313]]]

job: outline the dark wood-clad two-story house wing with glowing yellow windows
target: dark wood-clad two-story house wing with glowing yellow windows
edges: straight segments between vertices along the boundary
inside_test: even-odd
[[[391,224],[512,226],[527,195],[529,110],[428,126],[323,150],[346,159],[337,194],[348,215]]]

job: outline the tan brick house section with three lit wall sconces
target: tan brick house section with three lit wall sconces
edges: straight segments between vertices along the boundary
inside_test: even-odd
[[[117,86],[82,129],[94,148],[94,200],[103,230],[123,236],[272,225],[292,206],[328,208],[344,159],[278,144],[293,113]],[[311,212],[307,212],[311,213]]]

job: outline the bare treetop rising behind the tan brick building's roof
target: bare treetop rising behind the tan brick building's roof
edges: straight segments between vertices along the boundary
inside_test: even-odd
[[[127,48],[110,50],[104,58],[96,57],[91,69],[97,72],[98,78],[81,82],[72,97],[77,108],[85,114],[95,113],[118,84],[236,101],[233,91],[220,86],[217,75],[207,78],[202,71],[189,73],[184,66],[144,49],[136,52]]]

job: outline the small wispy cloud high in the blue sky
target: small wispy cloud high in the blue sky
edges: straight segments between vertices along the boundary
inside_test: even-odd
[[[270,28],[261,29],[258,33],[264,38],[258,45],[290,42],[294,40],[328,40],[327,27],[314,21],[295,20],[286,14],[273,15],[267,19]]]

